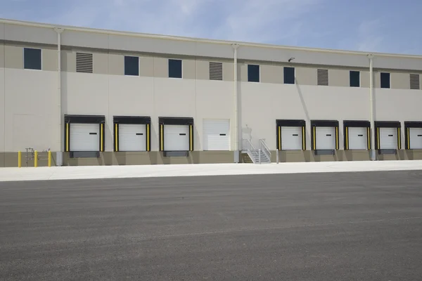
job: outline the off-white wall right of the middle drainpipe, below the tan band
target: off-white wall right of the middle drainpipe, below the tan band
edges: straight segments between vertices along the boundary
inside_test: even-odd
[[[308,150],[311,119],[340,122],[340,150],[343,150],[343,120],[370,119],[368,89],[242,82],[240,91],[241,126],[252,130],[254,144],[265,138],[272,150],[276,150],[276,119],[305,119]],[[376,121],[400,121],[403,127],[404,121],[421,121],[418,114],[421,91],[375,89],[374,95]]]

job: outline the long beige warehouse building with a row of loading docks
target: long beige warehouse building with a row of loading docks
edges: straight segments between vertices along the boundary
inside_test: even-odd
[[[0,166],[28,148],[64,166],[422,159],[421,73],[416,55],[0,20]]]

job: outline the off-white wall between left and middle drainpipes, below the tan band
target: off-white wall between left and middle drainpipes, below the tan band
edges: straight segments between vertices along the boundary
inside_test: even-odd
[[[203,149],[203,119],[233,123],[231,82],[83,73],[62,77],[63,114],[106,115],[108,151],[113,150],[113,116],[117,115],[151,117],[151,150],[158,150],[158,117],[193,117],[196,150]]]

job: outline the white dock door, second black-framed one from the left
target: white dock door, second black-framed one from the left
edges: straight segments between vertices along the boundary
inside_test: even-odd
[[[120,124],[119,150],[146,151],[146,125]]]

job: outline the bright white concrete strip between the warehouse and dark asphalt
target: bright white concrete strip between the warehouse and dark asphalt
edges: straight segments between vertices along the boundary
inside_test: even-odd
[[[0,181],[44,181],[89,178],[297,174],[339,171],[422,170],[422,161],[298,162],[280,164],[172,164],[141,166],[63,166],[0,168]]]

